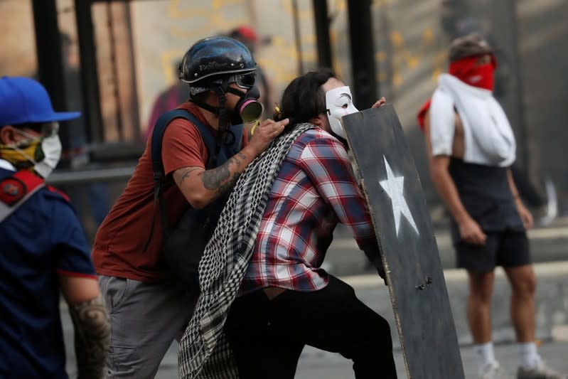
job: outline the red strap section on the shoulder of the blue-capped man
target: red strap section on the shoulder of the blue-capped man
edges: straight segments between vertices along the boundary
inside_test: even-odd
[[[27,170],[16,171],[0,180],[0,223],[45,186],[39,176]]]

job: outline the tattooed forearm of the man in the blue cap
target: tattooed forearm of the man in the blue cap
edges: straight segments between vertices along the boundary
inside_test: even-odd
[[[110,318],[105,301],[95,299],[69,306],[75,327],[75,356],[80,379],[100,379],[109,352]]]

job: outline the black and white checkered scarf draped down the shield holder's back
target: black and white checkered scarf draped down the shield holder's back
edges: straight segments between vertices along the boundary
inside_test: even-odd
[[[200,261],[201,294],[181,338],[180,378],[239,377],[223,325],[247,271],[274,178],[296,138],[313,128],[313,124],[297,124],[272,142],[247,166],[232,190]]]

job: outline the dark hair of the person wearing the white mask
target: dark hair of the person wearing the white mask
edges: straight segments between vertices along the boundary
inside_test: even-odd
[[[274,119],[289,118],[291,127],[299,122],[309,122],[326,112],[326,93],[321,86],[329,80],[336,78],[330,68],[321,68],[311,71],[292,80],[280,100],[280,112],[274,114]]]

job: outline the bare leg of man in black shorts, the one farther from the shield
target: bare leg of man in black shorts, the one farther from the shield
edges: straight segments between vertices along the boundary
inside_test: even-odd
[[[510,315],[518,342],[535,341],[536,278],[532,265],[505,268],[511,284]]]

